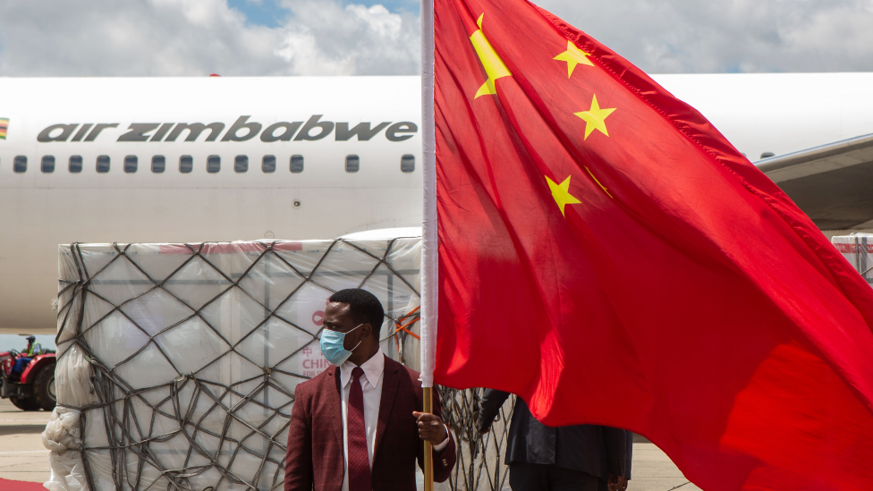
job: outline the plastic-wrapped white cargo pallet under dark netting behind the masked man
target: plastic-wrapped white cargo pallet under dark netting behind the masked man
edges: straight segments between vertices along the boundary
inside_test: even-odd
[[[283,487],[297,384],[329,365],[332,292],[386,309],[386,355],[419,367],[420,238],[61,246],[52,491]],[[502,489],[507,403],[440,388],[458,462],[443,489]],[[293,444],[293,443],[291,443]]]

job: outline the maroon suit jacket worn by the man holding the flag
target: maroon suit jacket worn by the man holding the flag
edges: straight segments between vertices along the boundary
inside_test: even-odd
[[[415,461],[424,465],[424,442],[419,438],[412,411],[421,411],[419,373],[386,357],[382,399],[373,458],[374,491],[415,491]],[[340,370],[327,368],[317,377],[297,385],[284,491],[341,491],[343,488],[343,403]],[[434,413],[442,415],[434,391]],[[454,439],[442,452],[434,452],[434,480],[443,482],[452,473]]]

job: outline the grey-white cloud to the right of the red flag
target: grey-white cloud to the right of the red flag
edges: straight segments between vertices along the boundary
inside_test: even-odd
[[[869,0],[539,0],[643,70],[873,71]]]

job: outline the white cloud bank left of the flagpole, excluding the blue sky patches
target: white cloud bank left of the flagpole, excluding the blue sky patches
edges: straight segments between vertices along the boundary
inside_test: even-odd
[[[333,0],[284,6],[289,20],[267,28],[226,0],[0,2],[0,75],[418,72],[411,14]]]

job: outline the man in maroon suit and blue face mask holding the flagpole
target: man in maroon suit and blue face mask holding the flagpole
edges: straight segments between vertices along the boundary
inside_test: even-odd
[[[360,289],[334,293],[321,350],[334,364],[294,391],[284,491],[415,491],[415,462],[434,444],[434,480],[452,472],[454,441],[423,414],[418,372],[379,349],[382,304]]]

